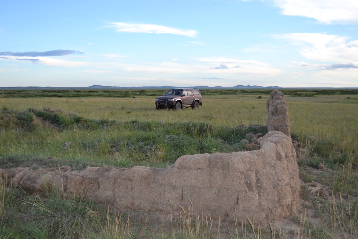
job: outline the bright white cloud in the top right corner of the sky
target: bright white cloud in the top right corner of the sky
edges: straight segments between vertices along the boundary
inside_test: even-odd
[[[287,16],[314,18],[325,24],[358,24],[357,0],[269,0]]]

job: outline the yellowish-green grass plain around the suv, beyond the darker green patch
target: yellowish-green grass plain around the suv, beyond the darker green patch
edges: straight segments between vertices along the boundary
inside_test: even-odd
[[[318,155],[332,162],[345,163],[348,158],[358,162],[358,107],[354,95],[320,95],[316,97],[286,96],[289,106],[291,134],[301,145],[312,135],[309,156]],[[268,97],[268,96],[267,96]],[[192,121],[213,126],[234,127],[240,124],[266,124],[265,96],[257,95],[209,95],[204,97],[198,110],[155,110],[154,97],[128,98],[2,98],[5,109],[23,111],[27,108],[50,107],[65,113],[73,113],[85,119],[118,122],[150,121],[177,123]],[[32,117],[31,115],[23,117]],[[61,117],[61,115],[59,115]],[[36,120],[36,119],[34,119]],[[77,119],[63,119],[62,125],[72,124]],[[75,129],[74,129],[75,130]],[[78,132],[78,131],[77,131]],[[48,132],[47,132],[48,133]],[[2,132],[2,138],[14,133]],[[9,135],[8,135],[9,134]],[[87,132],[87,135],[89,133]],[[89,134],[91,135],[91,134]],[[82,135],[85,137],[86,135]],[[6,145],[14,147],[14,145]],[[163,147],[162,147],[163,148]],[[16,150],[14,150],[16,151]],[[195,150],[194,150],[195,151]],[[4,155],[4,154],[3,154]],[[85,153],[85,157],[86,153]]]

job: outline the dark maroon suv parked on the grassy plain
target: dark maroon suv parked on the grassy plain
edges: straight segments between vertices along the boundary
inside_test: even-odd
[[[155,99],[157,110],[166,108],[181,110],[182,107],[192,107],[196,110],[202,104],[203,97],[196,88],[171,89]]]

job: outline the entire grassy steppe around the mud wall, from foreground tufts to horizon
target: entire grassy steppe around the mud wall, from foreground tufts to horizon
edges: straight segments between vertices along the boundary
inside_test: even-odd
[[[284,91],[284,90],[283,90]],[[114,92],[114,93],[113,93]],[[158,90],[161,95],[165,90]],[[166,167],[184,154],[243,150],[240,124],[265,124],[269,90],[202,90],[198,110],[155,110],[152,91],[94,91],[89,97],[0,98],[0,167],[70,165]],[[291,134],[299,141],[301,197],[314,208],[319,225],[299,216],[294,238],[356,238],[358,236],[358,91],[287,91]],[[20,92],[22,95],[29,92]],[[54,93],[54,92],[52,92]],[[71,92],[67,92],[70,94]],[[67,94],[66,93],[66,94]],[[141,94],[139,94],[141,93]],[[157,94],[158,93],[158,94]],[[21,95],[20,94],[20,95]],[[56,93],[60,94],[60,93]],[[62,94],[62,93],[61,93]],[[107,97],[98,97],[106,95]],[[108,95],[110,94],[110,95]],[[122,94],[122,93],[121,93]],[[0,92],[1,95],[1,92]],[[135,99],[131,96],[136,95]],[[33,94],[32,96],[35,96]],[[261,96],[261,97],[260,97]],[[44,110],[43,110],[44,109]],[[252,131],[264,131],[252,128]],[[315,138],[309,137],[314,136]],[[71,142],[70,144],[67,144]],[[65,148],[64,148],[65,147]],[[329,171],[315,175],[318,163]],[[339,164],[344,166],[339,166]],[[48,188],[45,198],[0,185],[0,238],[285,238],[269,225],[243,228],[188,215],[158,233],[146,220],[110,214],[84,199],[68,199]],[[327,185],[337,201],[314,197],[309,185]],[[187,212],[188,213],[188,212]],[[215,225],[215,226],[214,226]],[[225,231],[225,233],[222,233]],[[222,234],[221,234],[222,233]]]

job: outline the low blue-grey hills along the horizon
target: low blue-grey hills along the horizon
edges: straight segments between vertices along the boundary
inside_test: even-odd
[[[280,86],[82,86],[82,87],[56,87],[56,86],[9,86],[0,87],[0,90],[115,90],[115,89],[174,89],[174,88],[198,88],[198,89],[358,89],[358,87],[285,87]]]

